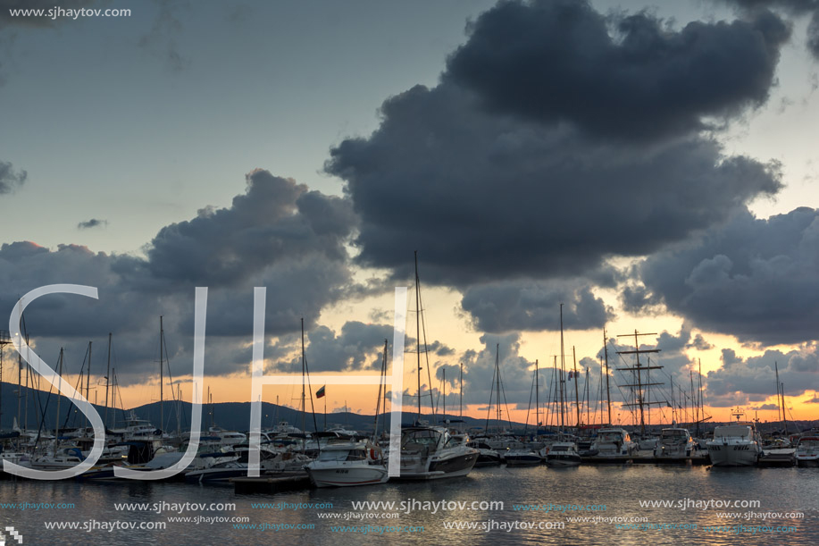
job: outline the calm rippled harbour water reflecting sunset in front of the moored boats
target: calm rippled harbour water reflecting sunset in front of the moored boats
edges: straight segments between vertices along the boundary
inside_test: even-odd
[[[758,500],[758,508],[640,508],[639,500]],[[447,500],[455,502],[503,501],[503,509],[441,510],[437,514],[415,509],[397,519],[345,519],[347,514],[382,515],[397,509],[354,510],[353,501],[416,500],[420,503]],[[171,513],[156,511],[117,511],[114,503],[235,503],[234,510],[192,509]],[[0,508],[2,531],[13,526],[24,544],[270,544],[304,542],[312,544],[363,544],[388,541],[390,544],[769,544],[788,542],[798,545],[819,543],[819,469],[817,468],[714,468],[701,466],[581,466],[550,469],[476,468],[466,478],[427,483],[387,483],[363,488],[296,491],[275,495],[236,495],[232,487],[188,485],[184,483],[75,483],[0,481],[0,507],[3,503],[73,503],[74,508],[57,509]],[[259,508],[253,503],[323,503],[328,508]],[[513,504],[606,505],[596,512],[572,511],[564,514],[545,511],[514,510]],[[332,508],[329,508],[329,505]],[[452,505],[455,506],[455,505]],[[476,507],[480,508],[480,507]],[[763,520],[726,520],[720,512],[802,512],[804,518],[785,517]],[[318,514],[338,514],[322,518]],[[312,525],[309,529],[241,529],[230,522],[213,524],[169,521],[169,517],[247,517],[244,525]],[[646,517],[653,525],[689,525],[689,529],[623,529],[615,523],[600,521],[566,522],[566,517]],[[138,525],[165,523],[163,530],[47,530],[46,522],[136,522]],[[447,523],[493,525],[494,530],[449,529]],[[484,523],[494,522],[494,523]],[[520,522],[520,523],[515,523]],[[548,526],[564,522],[563,529],[520,529],[506,531],[508,525]],[[341,526],[370,525],[362,533],[341,532]],[[501,526],[503,525],[503,526]],[[622,525],[622,524],[621,524]],[[692,528],[697,525],[697,528]],[[725,525],[729,531],[707,530],[709,525]],[[755,525],[775,528],[793,525],[790,533],[752,534],[734,531],[736,525],[747,529]],[[331,527],[337,527],[333,531]],[[380,536],[374,527],[414,526],[422,532],[385,531]],[[8,535],[8,533],[6,533]],[[6,537],[7,544],[13,544]]]

